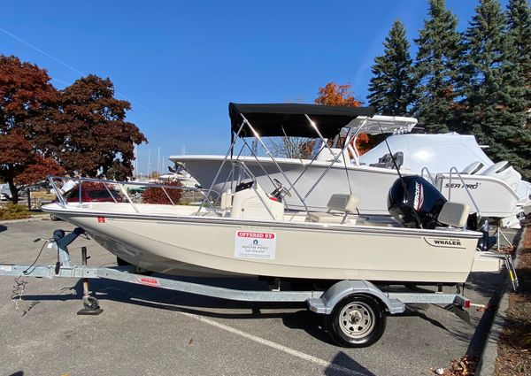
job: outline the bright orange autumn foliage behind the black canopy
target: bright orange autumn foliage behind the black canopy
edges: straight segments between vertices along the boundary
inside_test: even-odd
[[[352,91],[350,91],[350,84],[338,85],[335,82],[328,82],[324,88],[319,88],[319,96],[315,103],[346,107],[358,107],[362,104],[354,98]],[[370,139],[368,134],[358,134],[356,148],[360,155],[372,147],[373,140]]]

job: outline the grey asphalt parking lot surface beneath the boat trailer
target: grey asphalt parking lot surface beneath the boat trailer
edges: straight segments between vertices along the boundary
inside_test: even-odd
[[[73,226],[50,220],[0,223],[0,264],[30,265],[42,247],[33,240],[49,238],[56,228]],[[81,246],[89,249],[90,266],[116,262],[96,242],[79,238],[69,247],[75,264],[81,263]],[[56,261],[57,254],[45,248],[37,264]],[[466,296],[488,303],[502,277],[474,276]],[[223,283],[238,288],[258,281]],[[426,375],[481,351],[486,334],[480,311],[469,310],[468,325],[443,307],[415,305],[389,317],[372,347],[344,349],[331,343],[319,317],[304,305],[234,303],[90,280],[104,312],[78,316],[81,288],[73,279],[24,277],[17,283],[0,276],[0,374]]]

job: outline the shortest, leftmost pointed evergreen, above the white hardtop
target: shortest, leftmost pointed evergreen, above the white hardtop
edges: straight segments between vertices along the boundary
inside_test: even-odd
[[[412,104],[412,58],[404,24],[396,20],[383,42],[384,55],[374,58],[369,103],[384,115],[406,115]]]

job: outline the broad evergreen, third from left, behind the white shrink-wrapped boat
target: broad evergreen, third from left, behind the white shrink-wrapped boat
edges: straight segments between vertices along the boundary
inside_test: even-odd
[[[525,127],[526,89],[512,37],[497,0],[480,0],[464,35],[460,75],[464,131],[489,145],[495,160],[509,160],[531,177],[531,134]]]

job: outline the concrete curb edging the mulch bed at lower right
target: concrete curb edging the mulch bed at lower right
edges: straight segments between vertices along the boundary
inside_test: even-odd
[[[524,247],[524,239],[526,236],[527,228],[524,228],[520,236],[520,241],[518,247],[516,248],[514,258],[515,267],[518,266],[519,254]],[[490,376],[494,374],[494,364],[496,364],[497,357],[497,347],[500,334],[504,330],[505,324],[505,311],[509,307],[509,294],[507,294],[507,287],[511,284],[511,277],[507,273],[507,278],[505,279],[504,287],[501,291],[501,299],[496,307],[496,314],[492,321],[492,326],[490,326],[489,335],[485,343],[485,348],[481,354],[480,362],[476,367],[475,374],[476,376]]]

